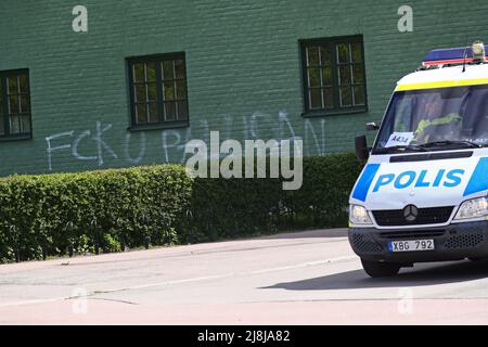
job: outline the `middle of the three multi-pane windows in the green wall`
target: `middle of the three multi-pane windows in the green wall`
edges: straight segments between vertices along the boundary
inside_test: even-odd
[[[184,53],[129,59],[132,129],[188,126]]]

